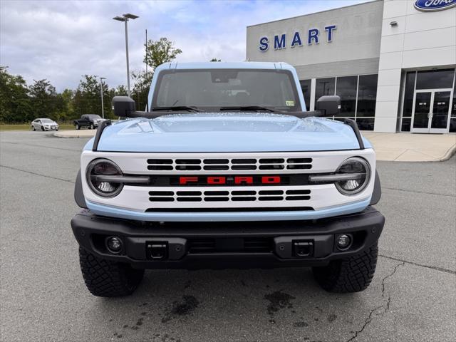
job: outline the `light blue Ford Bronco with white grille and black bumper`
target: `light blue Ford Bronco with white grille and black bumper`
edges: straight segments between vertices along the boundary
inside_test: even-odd
[[[375,152],[338,96],[306,111],[286,63],[165,63],[148,110],[113,98],[81,155],[71,220],[95,296],[145,269],[311,266],[326,291],[371,283],[385,219]]]

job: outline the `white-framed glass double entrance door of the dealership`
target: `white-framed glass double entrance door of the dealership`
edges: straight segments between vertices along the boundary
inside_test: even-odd
[[[415,90],[413,133],[447,133],[452,89]]]

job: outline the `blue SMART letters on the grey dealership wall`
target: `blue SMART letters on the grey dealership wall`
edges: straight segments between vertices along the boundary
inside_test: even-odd
[[[456,0],[455,0],[456,1]],[[269,46],[273,47],[274,50],[281,50],[289,46],[294,48],[295,46],[318,44],[320,43],[321,36],[326,36],[326,42],[331,43],[333,41],[334,31],[337,29],[336,25],[325,26],[324,31],[320,32],[318,28],[310,28],[307,32],[301,33],[295,31],[291,36],[287,36],[286,33],[276,34],[269,40],[269,37],[263,36],[259,38],[259,51],[266,52],[269,50]],[[323,38],[324,39],[324,38]]]

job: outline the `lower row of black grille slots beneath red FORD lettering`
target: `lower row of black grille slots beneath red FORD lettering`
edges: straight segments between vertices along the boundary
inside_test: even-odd
[[[150,191],[150,202],[308,201],[311,190]]]

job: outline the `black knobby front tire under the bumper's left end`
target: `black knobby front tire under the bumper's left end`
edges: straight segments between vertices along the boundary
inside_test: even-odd
[[[144,269],[100,259],[82,247],[79,247],[79,262],[87,289],[94,296],[128,296],[133,294],[144,276]]]

